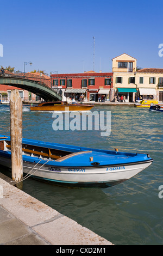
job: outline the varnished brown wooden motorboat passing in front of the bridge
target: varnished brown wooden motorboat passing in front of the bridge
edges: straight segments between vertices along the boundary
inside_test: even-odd
[[[88,111],[93,105],[70,103],[67,101],[42,102],[37,106],[30,106],[31,111]]]

